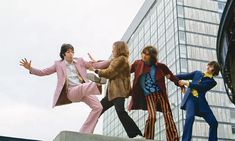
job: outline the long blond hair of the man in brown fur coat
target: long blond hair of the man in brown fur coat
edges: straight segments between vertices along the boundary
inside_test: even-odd
[[[126,42],[124,41],[117,41],[113,43],[116,51],[116,57],[118,56],[125,56],[129,57],[129,48]]]

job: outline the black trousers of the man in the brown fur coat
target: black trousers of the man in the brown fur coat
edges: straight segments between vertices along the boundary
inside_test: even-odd
[[[110,107],[114,106],[115,110],[117,112],[118,118],[121,121],[128,137],[133,138],[137,135],[142,136],[142,133],[141,133],[140,129],[138,128],[138,126],[135,124],[135,122],[129,117],[129,115],[125,111],[124,102],[125,102],[125,98],[122,98],[122,97],[116,98],[112,101],[109,101],[108,96],[105,96],[101,100],[101,104],[103,106],[103,111],[102,111],[101,115],[106,110],[108,110]]]

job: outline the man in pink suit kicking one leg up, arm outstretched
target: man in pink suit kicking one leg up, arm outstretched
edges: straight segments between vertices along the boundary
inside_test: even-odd
[[[57,73],[57,87],[54,94],[53,107],[70,104],[72,102],[84,102],[92,110],[80,129],[81,133],[93,133],[102,105],[95,95],[101,94],[101,84],[106,83],[104,79],[99,82],[90,82],[87,78],[87,69],[91,67],[90,62],[83,58],[74,58],[74,48],[70,44],[63,44],[60,50],[61,60],[55,61],[54,65],[46,69],[31,67],[31,61],[22,59],[20,65],[28,69],[31,74],[45,76]],[[93,63],[93,67],[106,68],[109,61]]]

